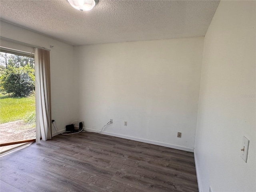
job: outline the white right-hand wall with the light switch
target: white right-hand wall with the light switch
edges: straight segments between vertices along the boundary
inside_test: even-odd
[[[195,157],[205,192],[256,191],[255,4],[221,1],[204,39]]]

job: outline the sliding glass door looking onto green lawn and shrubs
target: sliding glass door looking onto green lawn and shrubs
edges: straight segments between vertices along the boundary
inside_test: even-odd
[[[0,136],[1,146],[36,138],[34,54],[1,49]]]

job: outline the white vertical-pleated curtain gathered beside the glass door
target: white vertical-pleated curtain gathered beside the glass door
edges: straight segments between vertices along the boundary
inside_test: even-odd
[[[50,51],[36,48],[36,142],[52,139]]]

